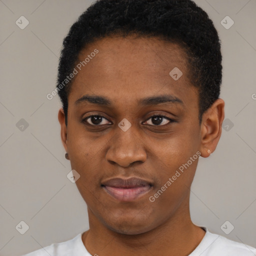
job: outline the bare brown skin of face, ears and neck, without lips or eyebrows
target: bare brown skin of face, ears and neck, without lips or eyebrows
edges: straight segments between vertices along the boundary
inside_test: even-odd
[[[94,255],[188,255],[205,232],[189,213],[189,192],[198,158],[154,202],[156,193],[182,164],[201,152],[212,153],[221,134],[224,101],[217,99],[198,119],[198,92],[189,80],[184,50],[157,38],[105,37],[80,52],[83,60],[99,52],[76,74],[68,95],[67,127],[58,112],[61,139],[72,169],[80,178],[77,188],[87,204],[89,230],[82,235]],[[79,62],[78,61],[78,62]],[[182,76],[174,80],[174,67]],[[110,105],[75,104],[83,95],[107,97]],[[182,103],[140,105],[144,97],[172,95]],[[102,121],[94,126],[97,114]],[[153,114],[165,115],[156,125]],[[106,119],[105,119],[106,118]],[[118,123],[126,118],[131,127]],[[89,125],[89,123],[91,125]],[[101,127],[100,127],[101,126]],[[139,177],[152,183],[142,197],[118,201],[100,186],[109,178]]]

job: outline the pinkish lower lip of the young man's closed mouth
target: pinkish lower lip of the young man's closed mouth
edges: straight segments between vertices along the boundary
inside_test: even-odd
[[[147,193],[150,190],[150,187],[151,186],[148,185],[129,188],[104,186],[103,188],[106,190],[108,194],[110,194],[119,201],[132,201]]]

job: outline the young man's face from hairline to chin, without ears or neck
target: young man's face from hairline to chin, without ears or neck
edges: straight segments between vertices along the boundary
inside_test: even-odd
[[[188,79],[185,53],[176,44],[105,37],[82,50],[78,62],[95,48],[98,53],[81,70],[76,68],[68,95],[71,167],[80,174],[76,185],[91,218],[119,233],[146,232],[177,213],[188,214],[198,160],[193,156],[200,147],[198,92]],[[174,69],[171,77],[175,67],[181,76]],[[84,95],[109,103],[81,100]],[[172,100],[146,100],[159,96]],[[130,177],[144,181],[109,181]]]

